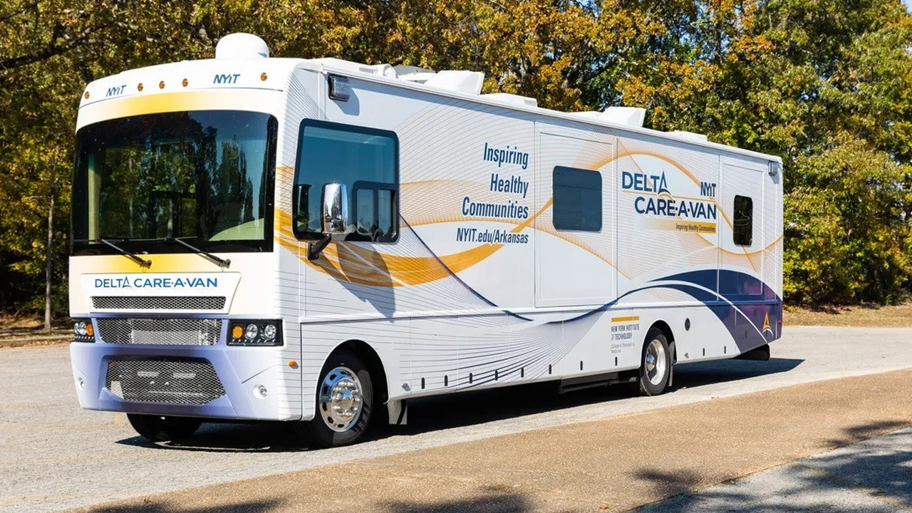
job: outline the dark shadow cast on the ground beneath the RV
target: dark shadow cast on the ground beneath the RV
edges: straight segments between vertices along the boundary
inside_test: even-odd
[[[711,383],[746,380],[792,371],[803,360],[772,358],[769,361],[703,361],[675,367],[674,387],[669,393]],[[409,403],[409,424],[378,425],[374,439],[391,435],[421,434],[468,425],[556,412],[587,404],[627,399],[638,393],[635,384],[597,387],[573,393],[558,393],[555,383],[534,383],[494,390],[453,393]],[[644,399],[645,400],[645,399]],[[152,444],[139,436],[119,444],[158,449],[224,452],[300,451],[288,423],[203,424],[191,439]]]

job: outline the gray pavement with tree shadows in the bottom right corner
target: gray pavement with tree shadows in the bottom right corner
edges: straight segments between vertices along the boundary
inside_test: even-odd
[[[912,512],[912,428],[876,436],[634,511]]]

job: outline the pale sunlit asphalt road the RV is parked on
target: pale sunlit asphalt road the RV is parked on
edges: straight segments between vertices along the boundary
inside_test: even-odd
[[[675,390],[558,395],[541,386],[419,403],[411,425],[366,444],[298,449],[285,424],[206,424],[189,443],[152,445],[121,414],[78,408],[66,348],[0,351],[0,512],[53,511],[334,465],[504,434],[699,403],[783,386],[912,368],[912,330],[794,328],[772,361],[677,368]]]

